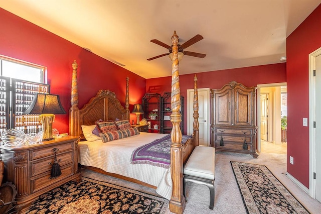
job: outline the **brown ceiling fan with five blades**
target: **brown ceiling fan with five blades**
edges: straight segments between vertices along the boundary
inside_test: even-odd
[[[174,34],[176,34],[176,31],[174,31]],[[193,38],[191,38],[190,40],[188,40],[185,43],[183,43],[182,45],[178,44],[179,59],[182,58],[184,55],[204,58],[206,56],[206,54],[201,54],[201,53],[196,53],[196,52],[191,52],[191,51],[184,51],[185,48],[190,47],[191,45],[201,41],[202,39],[204,39],[203,36],[198,34],[198,35],[194,36]],[[169,46],[169,45],[165,44],[164,42],[161,42],[161,41],[159,41],[157,39],[152,39],[152,40],[150,40],[150,42],[155,43],[157,45],[160,45],[160,46],[163,46],[164,48],[169,49],[169,53],[165,53],[165,54],[161,54],[161,55],[158,55],[158,56],[151,57],[151,58],[147,59],[148,61],[153,60],[153,59],[157,59],[157,58],[162,57],[162,56],[168,56],[168,55],[170,55],[170,58],[171,58],[171,55],[172,55],[171,53],[173,51],[173,45]]]

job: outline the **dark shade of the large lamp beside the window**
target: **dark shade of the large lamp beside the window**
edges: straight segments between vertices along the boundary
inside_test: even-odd
[[[37,93],[34,95],[31,104],[23,114],[66,114],[61,105],[59,95]]]

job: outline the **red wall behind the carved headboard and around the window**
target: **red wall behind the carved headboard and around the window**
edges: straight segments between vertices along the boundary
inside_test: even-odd
[[[47,67],[51,93],[59,94],[66,115],[56,115],[54,128],[69,131],[71,64],[78,67],[79,107],[99,89],[114,91],[124,106],[126,76],[129,76],[130,110],[141,102],[145,79],[111,63],[53,33],[0,8],[0,55]],[[135,119],[134,115],[131,115]]]

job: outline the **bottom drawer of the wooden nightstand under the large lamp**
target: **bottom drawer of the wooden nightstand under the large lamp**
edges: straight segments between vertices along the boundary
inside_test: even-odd
[[[47,172],[42,174],[41,176],[31,178],[31,193],[34,193],[36,191],[39,191],[45,187],[48,187],[52,184],[55,184],[56,182],[69,177],[71,175],[75,174],[75,164],[68,164],[63,167],[61,167],[61,175],[57,178],[50,179],[51,177],[51,172]]]

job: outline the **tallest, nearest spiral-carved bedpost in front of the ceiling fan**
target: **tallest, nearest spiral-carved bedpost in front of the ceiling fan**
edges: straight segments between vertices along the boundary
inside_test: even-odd
[[[170,200],[170,210],[175,213],[183,213],[186,201],[183,195],[183,152],[182,152],[182,132],[180,124],[182,122],[181,91],[179,77],[178,60],[179,37],[174,31],[172,36],[173,44],[173,64],[172,64],[172,98],[171,98],[171,122],[173,129],[171,133],[171,174],[173,181],[173,192]]]

